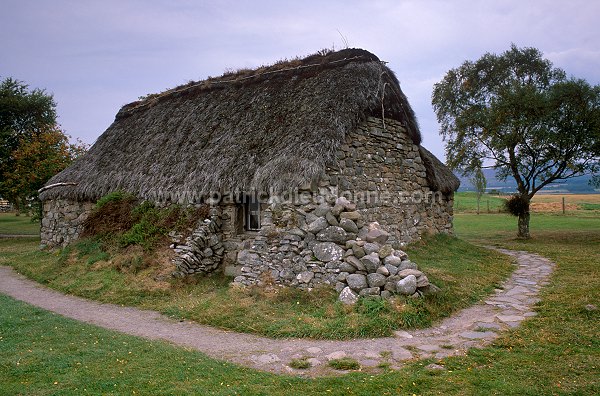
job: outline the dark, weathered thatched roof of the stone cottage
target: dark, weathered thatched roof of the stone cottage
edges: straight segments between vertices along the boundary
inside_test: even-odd
[[[95,200],[126,190],[182,194],[282,191],[318,178],[346,132],[368,116],[421,136],[398,80],[364,50],[320,53],[190,83],[123,106],[89,152],[41,199]]]

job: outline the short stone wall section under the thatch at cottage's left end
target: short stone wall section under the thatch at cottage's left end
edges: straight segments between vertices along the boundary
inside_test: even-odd
[[[48,200],[43,203],[41,243],[49,248],[65,247],[77,240],[83,231],[94,204],[66,199]]]

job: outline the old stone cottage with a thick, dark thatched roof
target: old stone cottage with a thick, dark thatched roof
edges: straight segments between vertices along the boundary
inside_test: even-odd
[[[270,271],[297,283],[305,271],[295,267],[325,268],[340,260],[335,246],[346,249],[373,229],[391,245],[451,232],[458,185],[421,146],[413,110],[384,62],[360,49],[323,52],[123,106],[40,194],[42,241],[76,239],[93,202],[116,190],[161,204],[211,202],[212,223],[195,235],[204,235],[203,247],[218,239],[218,248],[210,260],[182,259],[182,273],[225,262],[243,282]],[[337,260],[314,251],[323,243]]]

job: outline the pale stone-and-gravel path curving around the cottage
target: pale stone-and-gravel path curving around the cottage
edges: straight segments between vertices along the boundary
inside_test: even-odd
[[[12,268],[0,266],[0,293],[81,322],[151,340],[165,340],[210,357],[274,373],[306,376],[339,374],[328,360],[350,357],[363,371],[380,364],[399,368],[412,359],[464,354],[469,348],[489,345],[499,333],[535,316],[538,293],[548,283],[554,263],[536,254],[497,249],[515,258],[517,268],[502,289],[484,302],[463,309],[436,326],[396,331],[393,337],[328,341],[269,339],[179,322],[154,311],[102,304],[48,289]],[[292,359],[308,358],[312,367],[295,370]]]

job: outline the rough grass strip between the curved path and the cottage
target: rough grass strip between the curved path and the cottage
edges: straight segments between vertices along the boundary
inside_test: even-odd
[[[157,281],[156,268],[133,271],[132,264],[103,261],[105,253],[89,240],[60,254],[36,247],[35,241],[0,240],[0,263],[66,293],[275,338],[379,337],[397,329],[427,327],[483,298],[512,270],[503,255],[437,236],[407,251],[441,293],[423,299],[361,299],[349,307],[338,302],[330,288],[238,289],[223,276]]]

